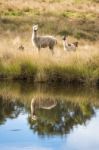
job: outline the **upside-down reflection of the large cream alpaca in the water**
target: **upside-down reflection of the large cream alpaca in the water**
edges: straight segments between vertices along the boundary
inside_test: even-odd
[[[57,105],[57,102],[55,100],[52,99],[32,99],[31,100],[31,119],[33,120],[37,120],[37,116],[36,116],[36,110],[37,109],[45,109],[45,110],[51,110],[52,108],[54,108]]]

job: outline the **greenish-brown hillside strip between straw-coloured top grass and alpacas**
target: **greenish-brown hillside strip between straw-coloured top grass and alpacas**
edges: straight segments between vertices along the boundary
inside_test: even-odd
[[[98,41],[99,39],[99,21],[97,14],[87,13],[86,15],[86,13],[71,11],[65,11],[61,14],[53,12],[43,14],[39,10],[30,10],[29,13],[27,11],[25,10],[25,13],[11,11],[2,16],[0,26],[1,34],[6,34],[8,30],[12,34],[15,32],[18,32],[20,35],[24,33],[31,34],[32,25],[39,24],[39,33],[60,36],[67,34],[77,39],[88,39],[90,41]]]

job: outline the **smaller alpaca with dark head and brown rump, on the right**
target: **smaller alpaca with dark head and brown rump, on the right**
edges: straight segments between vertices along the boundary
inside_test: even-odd
[[[67,42],[67,37],[64,36],[63,37],[63,46],[64,46],[64,51],[66,51],[66,50],[67,51],[71,51],[71,50],[75,51],[76,48],[78,47],[78,42],[74,42],[74,43],[69,44]]]

